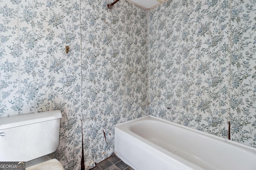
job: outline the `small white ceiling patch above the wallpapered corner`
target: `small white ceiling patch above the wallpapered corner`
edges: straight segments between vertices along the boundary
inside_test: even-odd
[[[150,10],[168,0],[127,0],[127,1],[133,4],[136,4],[141,8],[144,8],[145,10]]]

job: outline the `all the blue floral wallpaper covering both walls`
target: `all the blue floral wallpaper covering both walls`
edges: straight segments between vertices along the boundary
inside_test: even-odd
[[[0,118],[60,109],[66,170],[146,115],[256,147],[255,0],[109,3],[0,0]]]

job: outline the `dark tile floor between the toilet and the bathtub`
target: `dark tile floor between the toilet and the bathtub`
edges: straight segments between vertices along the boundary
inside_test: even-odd
[[[96,166],[90,170],[134,170],[126,163],[124,163],[118,156],[112,154],[109,158],[96,164]]]

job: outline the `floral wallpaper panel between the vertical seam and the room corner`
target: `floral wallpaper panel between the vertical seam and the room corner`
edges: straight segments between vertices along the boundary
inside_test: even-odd
[[[112,10],[106,9],[108,3],[88,1],[81,10],[82,125],[88,167],[114,152],[117,123],[149,113],[148,12],[125,0]]]

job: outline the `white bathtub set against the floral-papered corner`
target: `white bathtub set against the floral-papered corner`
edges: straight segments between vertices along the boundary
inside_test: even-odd
[[[135,170],[256,170],[256,149],[147,116],[115,127],[115,153]]]

